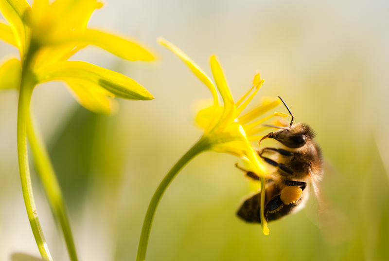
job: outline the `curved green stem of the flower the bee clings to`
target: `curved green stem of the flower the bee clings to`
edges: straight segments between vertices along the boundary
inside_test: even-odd
[[[146,217],[144,218],[141,238],[139,240],[138,246],[137,261],[144,261],[146,259],[147,244],[149,242],[151,225],[153,224],[154,215],[163,193],[165,193],[166,188],[170,185],[173,179],[177,176],[178,172],[184,168],[186,164],[195,158],[195,156],[207,150],[207,144],[208,143],[205,139],[200,139],[182,156],[182,158],[177,161],[176,165],[170,169],[170,171],[163,178],[162,182],[159,184],[147,209]]]

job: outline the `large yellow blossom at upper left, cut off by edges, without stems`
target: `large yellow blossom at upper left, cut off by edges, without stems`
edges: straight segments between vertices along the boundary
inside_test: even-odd
[[[20,60],[0,67],[0,89],[18,88],[23,63],[29,61],[35,85],[61,80],[76,100],[93,112],[110,113],[117,107],[110,97],[151,100],[139,83],[122,74],[82,61],[67,61],[89,44],[121,58],[150,61],[154,56],[134,41],[88,29],[92,12],[103,4],[96,0],[0,0],[9,25],[0,22],[0,39],[16,46]],[[21,62],[20,62],[21,61]],[[26,70],[24,68],[24,70]]]

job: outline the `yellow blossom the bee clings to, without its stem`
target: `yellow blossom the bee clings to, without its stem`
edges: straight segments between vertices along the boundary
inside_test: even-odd
[[[221,105],[217,97],[216,88],[211,78],[206,75],[195,64],[194,61],[186,56],[175,45],[162,38],[159,38],[159,43],[169,48],[173,53],[181,58],[181,60],[184,61],[190,70],[210,89],[212,93],[213,105],[209,108],[201,110],[196,116],[196,122],[204,129],[204,134],[199,141],[199,143],[201,143],[203,146],[203,151],[230,153],[244,159],[246,162],[248,162],[250,169],[253,170],[259,177],[261,177],[262,191],[264,193],[264,177],[268,173],[268,170],[258,156],[257,152],[251,146],[250,141],[261,140],[263,136],[254,135],[269,128],[255,128],[259,124],[273,116],[287,116],[287,114],[275,112],[265,118],[257,119],[265,112],[268,112],[269,110],[278,106],[281,101],[279,99],[273,101],[267,100],[261,106],[258,106],[251,111],[241,115],[243,110],[247,107],[248,103],[252,100],[254,95],[258,92],[264,83],[264,80],[260,79],[259,74],[254,76],[253,87],[248,91],[248,93],[243,95],[243,97],[235,103],[232,99],[229,87],[223,75],[222,68],[216,60],[216,57],[211,56],[212,75],[223,100],[223,105]],[[265,221],[263,218],[265,200],[264,195],[262,199],[261,220]],[[262,230],[264,234],[268,234],[266,222],[262,222]]]

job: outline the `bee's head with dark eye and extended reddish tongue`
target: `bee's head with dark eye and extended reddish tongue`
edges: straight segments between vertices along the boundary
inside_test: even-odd
[[[281,142],[288,148],[296,149],[304,146],[307,141],[314,137],[312,129],[305,123],[297,123],[292,125],[290,128],[282,128],[280,130],[270,132],[265,138],[275,139]]]

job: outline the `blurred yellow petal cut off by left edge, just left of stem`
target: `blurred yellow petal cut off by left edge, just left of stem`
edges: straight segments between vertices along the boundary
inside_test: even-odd
[[[21,64],[16,58],[12,58],[0,66],[0,89],[19,89],[21,76]]]

